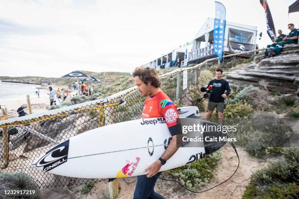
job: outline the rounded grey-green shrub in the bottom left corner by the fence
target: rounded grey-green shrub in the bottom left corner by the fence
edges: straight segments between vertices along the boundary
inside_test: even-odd
[[[41,199],[41,192],[36,182],[24,173],[0,173],[0,199],[8,199],[4,190],[31,189],[35,190],[30,199]],[[14,196],[13,199],[24,199],[23,196]]]

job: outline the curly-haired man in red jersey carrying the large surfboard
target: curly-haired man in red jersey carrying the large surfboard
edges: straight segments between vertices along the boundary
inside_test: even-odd
[[[144,102],[142,118],[164,118],[172,136],[171,142],[161,158],[145,169],[144,172],[149,172],[149,174],[138,176],[134,199],[163,199],[154,191],[154,186],[157,177],[162,173],[159,172],[161,166],[178,150],[176,135],[178,134],[177,119],[179,115],[171,99],[160,89],[160,80],[153,68],[138,67],[133,72],[133,77],[141,95],[149,96]]]

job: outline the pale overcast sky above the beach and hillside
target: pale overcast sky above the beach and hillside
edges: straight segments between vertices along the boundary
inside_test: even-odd
[[[226,20],[271,40],[259,0],[219,0]],[[268,0],[276,30],[299,27],[295,0]],[[61,77],[74,70],[131,72],[192,41],[214,0],[0,0],[0,76]],[[296,20],[296,21],[295,21]]]

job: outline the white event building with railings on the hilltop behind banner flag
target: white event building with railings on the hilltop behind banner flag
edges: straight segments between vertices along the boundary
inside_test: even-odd
[[[157,70],[177,65],[187,66],[216,57],[213,51],[214,18],[208,18],[195,35],[191,45],[173,49],[144,64]],[[257,27],[226,21],[223,54],[234,54],[256,49]],[[186,53],[187,51],[187,53]],[[250,57],[252,54],[243,55]]]

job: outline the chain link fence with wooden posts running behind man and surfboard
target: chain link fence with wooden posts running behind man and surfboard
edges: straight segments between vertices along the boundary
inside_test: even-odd
[[[161,89],[173,101],[179,100],[186,87],[197,83],[205,63],[161,75]],[[141,118],[146,98],[136,91],[131,87],[105,99],[0,121],[0,172],[25,173],[40,187],[84,183],[86,179],[53,175],[31,167],[31,163],[56,144],[85,131]]]

